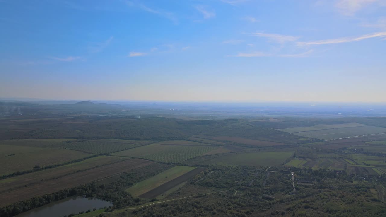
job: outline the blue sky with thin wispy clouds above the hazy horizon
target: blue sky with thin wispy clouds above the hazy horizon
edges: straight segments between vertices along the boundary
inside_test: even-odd
[[[0,0],[0,97],[386,102],[386,0]]]

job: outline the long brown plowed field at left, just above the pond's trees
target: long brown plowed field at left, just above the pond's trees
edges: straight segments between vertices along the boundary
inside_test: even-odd
[[[29,199],[32,197],[57,192],[65,188],[71,188],[80,184],[100,180],[107,176],[129,171],[135,168],[152,164],[151,161],[142,159],[129,159],[126,161],[100,166],[91,170],[73,173],[63,178],[41,181],[27,187],[17,188],[0,194],[0,207],[8,203]]]

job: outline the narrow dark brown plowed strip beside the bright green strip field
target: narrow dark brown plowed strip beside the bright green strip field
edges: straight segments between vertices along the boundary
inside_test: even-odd
[[[141,198],[155,198],[158,195],[173,188],[174,186],[177,186],[177,185],[183,183],[184,181],[188,181],[191,177],[197,175],[198,173],[200,173],[201,171],[204,171],[204,170],[205,170],[205,168],[200,168],[200,167],[195,168],[194,170],[191,170],[182,176],[178,176],[177,178],[175,178],[171,181],[168,181],[167,183],[164,183],[164,184],[154,188],[153,190],[150,190],[142,195],[139,195],[139,197],[141,197]]]

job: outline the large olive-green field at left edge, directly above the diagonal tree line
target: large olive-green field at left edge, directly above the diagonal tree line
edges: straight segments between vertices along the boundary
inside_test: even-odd
[[[0,158],[0,175],[31,170],[35,165],[48,166],[85,158],[92,154],[68,149],[44,149],[33,153],[16,154]]]

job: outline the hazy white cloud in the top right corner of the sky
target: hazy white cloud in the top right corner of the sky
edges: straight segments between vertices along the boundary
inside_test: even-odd
[[[372,3],[378,3],[379,6],[386,6],[386,0],[337,0],[335,7],[341,14],[350,16]]]

